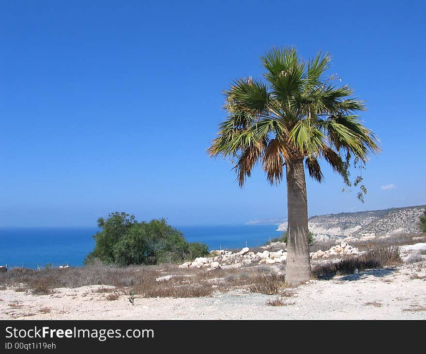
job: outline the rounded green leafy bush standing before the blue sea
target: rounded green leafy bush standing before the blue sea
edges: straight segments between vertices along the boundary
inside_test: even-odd
[[[180,262],[189,257],[208,254],[208,246],[201,242],[188,243],[181,231],[167,225],[165,219],[137,222],[134,215],[110,213],[98,219],[100,232],[93,238],[95,247],[84,263],[100,260],[104,264],[157,264]]]

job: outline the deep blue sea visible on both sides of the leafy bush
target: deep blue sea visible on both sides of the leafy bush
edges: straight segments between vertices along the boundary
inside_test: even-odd
[[[279,236],[277,225],[175,226],[189,242],[200,241],[209,249],[254,247]],[[53,263],[81,266],[93,250],[95,227],[0,228],[0,265],[37,268]]]

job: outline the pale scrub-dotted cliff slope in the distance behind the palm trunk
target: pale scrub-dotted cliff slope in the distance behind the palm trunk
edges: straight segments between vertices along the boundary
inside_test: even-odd
[[[419,218],[426,206],[391,208],[329,215],[315,215],[308,220],[315,235],[372,236],[400,232],[420,232]],[[287,230],[287,222],[278,226]]]

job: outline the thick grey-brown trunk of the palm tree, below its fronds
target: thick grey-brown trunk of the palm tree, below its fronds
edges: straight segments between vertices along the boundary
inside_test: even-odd
[[[311,277],[308,205],[302,159],[287,161],[287,266],[286,283],[298,285]]]

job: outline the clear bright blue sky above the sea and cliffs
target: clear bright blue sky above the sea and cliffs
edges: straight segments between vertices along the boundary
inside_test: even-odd
[[[364,204],[324,167],[309,214],[426,204],[425,13],[423,1],[3,1],[0,226],[95,225],[115,210],[173,225],[286,217],[285,184],[258,168],[239,189],[205,151],[222,90],[280,45],[333,55],[383,150]]]

